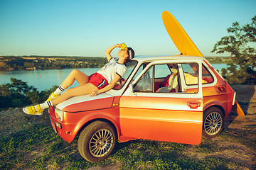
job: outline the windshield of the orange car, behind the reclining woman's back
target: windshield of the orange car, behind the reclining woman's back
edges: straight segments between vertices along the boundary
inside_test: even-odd
[[[129,61],[125,65],[127,67],[127,71],[124,73],[124,76],[117,81],[117,84],[114,86],[114,90],[122,89],[122,86],[124,86],[125,81],[129,78],[130,74],[134,70],[134,68],[137,65],[137,61]]]

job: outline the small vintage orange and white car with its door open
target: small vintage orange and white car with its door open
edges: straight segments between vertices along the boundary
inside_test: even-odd
[[[215,137],[234,106],[235,92],[204,58],[139,56],[114,89],[76,96],[49,108],[55,132],[90,162],[110,155],[117,140],[198,145]]]

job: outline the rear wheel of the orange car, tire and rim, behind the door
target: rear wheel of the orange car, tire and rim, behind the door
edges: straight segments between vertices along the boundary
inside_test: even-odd
[[[223,112],[219,108],[208,108],[203,113],[203,136],[213,138],[223,130]]]

